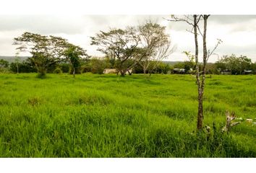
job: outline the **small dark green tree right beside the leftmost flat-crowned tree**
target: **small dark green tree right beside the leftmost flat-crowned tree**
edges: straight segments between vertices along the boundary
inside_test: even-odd
[[[71,64],[72,74],[74,77],[77,69],[80,67],[80,59],[82,57],[88,58],[88,55],[86,54],[86,50],[83,50],[79,46],[69,44],[67,47],[67,50],[64,50],[64,56]]]

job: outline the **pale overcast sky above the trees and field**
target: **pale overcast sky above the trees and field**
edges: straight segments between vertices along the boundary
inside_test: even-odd
[[[124,28],[140,25],[145,20],[152,20],[166,26],[171,43],[176,47],[167,61],[184,61],[184,50],[194,50],[193,35],[189,25],[182,22],[168,22],[168,15],[63,15],[63,14],[1,14],[0,15],[0,56],[14,56],[16,50],[12,45],[13,38],[23,32],[34,32],[41,35],[57,35],[66,38],[70,43],[80,45],[88,50],[91,56],[101,56],[90,37],[100,30]],[[212,15],[208,19],[208,49],[214,48],[217,39],[223,43],[217,48],[218,56],[212,56],[214,62],[223,55],[244,55],[256,61],[256,15]],[[201,42],[200,42],[201,43]],[[202,44],[201,44],[202,45]],[[27,56],[27,54],[21,54]]]

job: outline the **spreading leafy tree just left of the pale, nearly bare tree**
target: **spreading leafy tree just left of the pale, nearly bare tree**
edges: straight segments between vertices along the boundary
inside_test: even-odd
[[[137,63],[134,55],[140,40],[134,27],[127,27],[125,30],[101,31],[91,39],[91,45],[98,45],[100,47],[98,50],[102,53],[106,55],[108,53],[114,54],[116,58],[115,66],[121,76],[124,76]],[[132,60],[132,64],[127,63],[127,60]]]

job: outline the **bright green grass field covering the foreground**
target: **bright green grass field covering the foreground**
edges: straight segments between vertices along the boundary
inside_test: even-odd
[[[1,157],[255,157],[256,76],[0,74]],[[221,133],[225,111],[243,122]],[[213,128],[213,122],[215,128]]]

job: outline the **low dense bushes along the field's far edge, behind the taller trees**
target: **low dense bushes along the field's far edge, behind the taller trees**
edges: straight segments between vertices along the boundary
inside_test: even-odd
[[[82,74],[91,72],[93,74],[103,74],[106,68],[116,68],[115,58],[87,58],[80,59],[80,63],[77,66],[75,74]],[[127,63],[132,63],[127,61]],[[143,66],[137,63],[131,71],[131,74],[192,74],[195,71],[195,65],[190,61],[179,62],[175,64],[169,64],[168,62],[151,61],[151,64],[155,63],[153,71],[144,71]],[[200,66],[202,68],[202,66]],[[1,72],[12,73],[35,73],[37,68],[33,63],[32,58],[27,58],[25,61],[16,61],[9,63],[5,60],[0,60]],[[208,63],[206,66],[207,74],[256,74],[256,62],[252,63],[252,60],[246,56],[236,57],[234,54],[231,56],[223,56],[221,60],[216,63]],[[73,73],[73,68],[68,61],[61,61],[54,63],[48,67],[47,73],[61,74],[61,73]],[[117,73],[117,71],[116,71]]]

